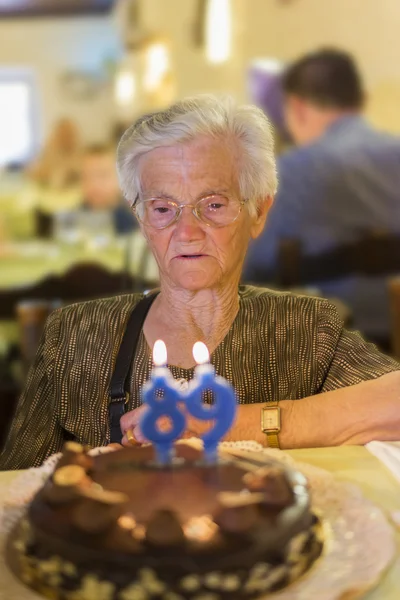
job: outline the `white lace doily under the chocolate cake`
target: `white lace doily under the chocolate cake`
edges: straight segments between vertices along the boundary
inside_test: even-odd
[[[364,498],[358,488],[336,480],[323,469],[296,463],[280,450],[262,448],[256,442],[228,442],[221,446],[259,451],[295,466],[308,478],[313,507],[324,522],[327,539],[323,555],[301,579],[268,598],[338,600],[348,594],[346,598],[352,600],[379,581],[395,554],[393,531],[382,511]],[[3,545],[26,504],[52,472],[57,458],[58,455],[50,457],[40,468],[22,473],[10,486],[0,486],[0,600],[40,598],[9,571]]]

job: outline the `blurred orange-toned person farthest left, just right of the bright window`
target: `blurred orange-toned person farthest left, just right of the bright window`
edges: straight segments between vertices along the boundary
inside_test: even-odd
[[[78,127],[67,118],[57,121],[43,151],[27,169],[39,185],[66,188],[79,182],[82,145]]]

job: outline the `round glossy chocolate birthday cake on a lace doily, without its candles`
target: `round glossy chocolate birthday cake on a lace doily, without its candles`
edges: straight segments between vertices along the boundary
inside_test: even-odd
[[[67,443],[8,544],[27,585],[60,600],[256,598],[303,574],[322,548],[302,474],[176,444],[89,456]]]

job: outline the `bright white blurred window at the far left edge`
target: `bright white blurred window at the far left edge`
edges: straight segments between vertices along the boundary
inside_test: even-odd
[[[34,147],[32,113],[32,82],[0,72],[0,167],[30,159]]]

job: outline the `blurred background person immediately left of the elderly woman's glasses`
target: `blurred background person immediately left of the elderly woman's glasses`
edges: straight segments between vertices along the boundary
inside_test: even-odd
[[[93,145],[82,158],[83,211],[110,211],[116,234],[136,229],[136,219],[123,200],[111,146]]]

